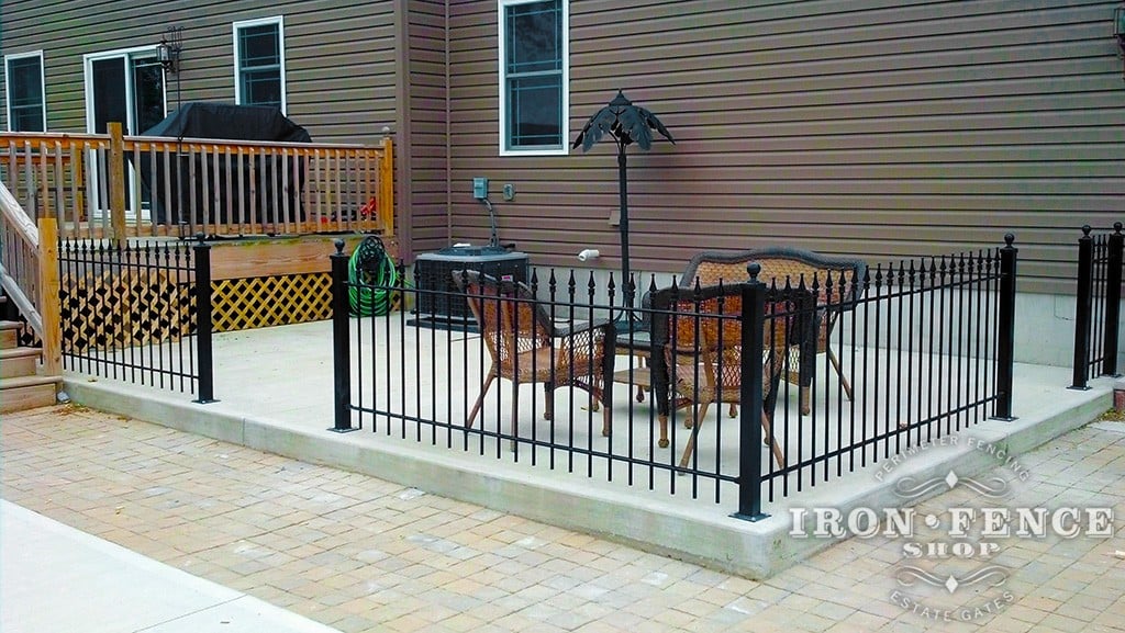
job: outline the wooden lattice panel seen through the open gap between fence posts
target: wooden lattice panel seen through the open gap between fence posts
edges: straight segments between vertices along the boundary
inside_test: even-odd
[[[236,332],[332,318],[330,273],[212,282],[212,329]]]

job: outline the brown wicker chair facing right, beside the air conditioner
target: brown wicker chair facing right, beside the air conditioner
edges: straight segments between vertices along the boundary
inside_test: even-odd
[[[554,415],[556,389],[576,387],[591,396],[591,409],[601,404],[602,435],[609,436],[613,391],[613,324],[591,323],[568,329],[551,322],[523,283],[497,281],[478,271],[453,271],[469,309],[480,326],[492,368],[465,421],[471,427],[485,395],[497,378],[512,381],[512,437],[518,436],[520,385],[542,382],[547,392],[544,419]]]

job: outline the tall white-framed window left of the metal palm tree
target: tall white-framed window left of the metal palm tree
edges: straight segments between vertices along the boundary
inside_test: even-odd
[[[501,154],[566,154],[567,2],[500,0]]]

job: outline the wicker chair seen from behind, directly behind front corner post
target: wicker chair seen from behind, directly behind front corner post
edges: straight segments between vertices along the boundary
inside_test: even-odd
[[[812,318],[813,306],[810,292],[795,289],[771,290],[766,299],[767,318],[760,355],[762,428],[778,468],[785,468],[785,455],[771,431],[776,388],[788,349],[794,338],[801,337],[801,319],[806,316]],[[659,359],[654,358],[654,370],[668,377],[670,388],[670,398],[658,398],[662,403],[670,400],[670,406],[659,410],[659,445],[668,445],[668,409],[695,406],[695,414],[685,419],[685,426],[692,432],[680,459],[680,467],[687,468],[695,451],[696,435],[711,404],[737,405],[741,401],[741,284],[711,286],[690,291],[683,288],[664,289],[652,297],[652,307],[657,315],[662,315],[654,322],[654,343],[664,351]],[[705,316],[711,314],[723,316]],[[778,316],[770,318],[771,315]]]

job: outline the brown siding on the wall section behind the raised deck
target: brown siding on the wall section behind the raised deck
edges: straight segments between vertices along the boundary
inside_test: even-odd
[[[233,102],[232,24],[272,16],[285,18],[290,118],[326,142],[377,143],[384,127],[396,128],[393,0],[290,0],[268,7],[250,0],[165,0],[144,10],[137,4],[3,1],[0,49],[44,51],[51,132],[86,130],[83,55],[155,45],[166,26],[183,28],[181,100]],[[168,76],[165,89],[174,109],[176,76]]]

